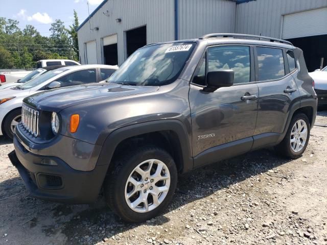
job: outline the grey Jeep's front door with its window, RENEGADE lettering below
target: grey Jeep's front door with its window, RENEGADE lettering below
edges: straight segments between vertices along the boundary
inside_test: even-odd
[[[244,45],[208,47],[196,69],[189,93],[195,166],[251,149],[259,93],[250,83],[250,50]],[[234,70],[234,85],[204,92],[206,73],[219,69]]]

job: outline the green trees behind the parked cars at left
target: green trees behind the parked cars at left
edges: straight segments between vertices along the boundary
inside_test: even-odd
[[[72,59],[78,61],[78,17],[69,30],[60,19],[51,24],[50,37],[42,36],[27,24],[21,31],[19,22],[0,17],[0,69],[33,68],[42,59]]]

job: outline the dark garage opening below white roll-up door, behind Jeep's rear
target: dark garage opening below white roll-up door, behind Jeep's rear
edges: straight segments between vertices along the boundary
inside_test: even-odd
[[[292,42],[294,46],[301,48],[309,72],[320,68],[321,58],[323,58],[322,67],[327,65],[327,35],[299,37],[287,40]]]

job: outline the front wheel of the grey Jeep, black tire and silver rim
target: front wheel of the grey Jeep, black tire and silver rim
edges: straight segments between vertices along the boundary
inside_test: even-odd
[[[149,168],[154,159],[152,170],[145,174],[146,171],[142,169]],[[142,146],[123,157],[114,159],[110,164],[113,164],[113,167],[109,169],[104,181],[105,199],[111,210],[126,222],[139,223],[149,220],[157,216],[171,202],[177,185],[177,168],[173,158],[164,149],[156,146]],[[159,165],[163,170],[156,175]],[[135,171],[137,166],[139,166],[138,172]],[[144,174],[143,177],[138,173]],[[147,176],[149,178],[146,181]],[[167,176],[170,178],[168,179]],[[131,178],[135,185],[130,182]],[[167,179],[158,181],[160,178]],[[135,179],[139,182],[134,182]],[[152,180],[153,182],[149,182]],[[160,188],[162,192],[157,195],[158,187],[162,187]],[[133,192],[135,194],[132,194]],[[155,199],[155,196],[158,198]],[[146,200],[148,210],[145,202],[137,205],[143,197],[148,197]],[[134,208],[131,207],[133,202]]]

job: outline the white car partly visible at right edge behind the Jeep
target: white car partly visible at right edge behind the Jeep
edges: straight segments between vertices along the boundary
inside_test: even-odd
[[[327,66],[321,70],[309,72],[315,81],[315,91],[318,96],[318,106],[327,105]]]

